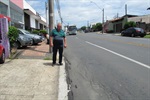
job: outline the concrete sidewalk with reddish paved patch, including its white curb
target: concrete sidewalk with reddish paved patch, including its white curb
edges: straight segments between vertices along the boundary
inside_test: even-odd
[[[67,100],[65,63],[52,66],[42,42],[0,65],[0,100]]]

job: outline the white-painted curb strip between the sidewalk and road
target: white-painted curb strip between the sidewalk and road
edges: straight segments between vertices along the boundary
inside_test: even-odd
[[[64,61],[64,58],[63,58]],[[63,62],[64,63],[64,62]],[[58,100],[68,100],[68,85],[66,81],[65,63],[59,67]]]

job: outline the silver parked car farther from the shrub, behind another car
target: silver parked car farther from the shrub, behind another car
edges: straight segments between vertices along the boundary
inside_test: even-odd
[[[23,30],[23,29],[18,29],[18,30],[19,30],[19,34],[22,34],[22,35],[25,35],[25,36],[31,38],[33,44],[38,44],[38,43],[42,42],[41,36],[39,36],[37,34],[32,34],[26,30]]]

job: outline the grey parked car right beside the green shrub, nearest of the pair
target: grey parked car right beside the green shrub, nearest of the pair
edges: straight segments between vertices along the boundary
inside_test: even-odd
[[[15,43],[17,48],[27,47],[33,44],[32,38],[23,34],[19,34],[19,37]]]

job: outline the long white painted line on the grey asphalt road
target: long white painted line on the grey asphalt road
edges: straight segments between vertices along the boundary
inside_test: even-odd
[[[126,56],[124,56],[124,55],[121,55],[121,54],[119,54],[119,53],[116,53],[116,52],[114,52],[114,51],[111,51],[111,50],[106,49],[106,48],[104,48],[104,47],[101,47],[101,46],[99,46],[99,45],[93,44],[93,43],[91,43],[91,42],[88,42],[88,41],[85,41],[85,42],[88,43],[88,44],[90,44],[90,45],[93,45],[93,46],[98,47],[98,48],[100,48],[100,49],[106,50],[106,51],[108,51],[108,52],[110,52],[110,53],[113,53],[113,54],[115,54],[115,55],[117,55],[117,56],[120,56],[120,57],[122,57],[122,58],[125,58],[125,59],[127,59],[127,60],[129,60],[129,61],[132,61],[132,62],[134,62],[134,63],[136,63],[136,64],[139,64],[139,65],[141,65],[141,66],[144,66],[144,67],[150,69],[150,66],[149,66],[149,65],[143,64],[143,63],[138,62],[138,61],[136,61],[136,60],[134,60],[134,59],[131,59],[131,58],[129,58],[129,57],[126,57]]]

